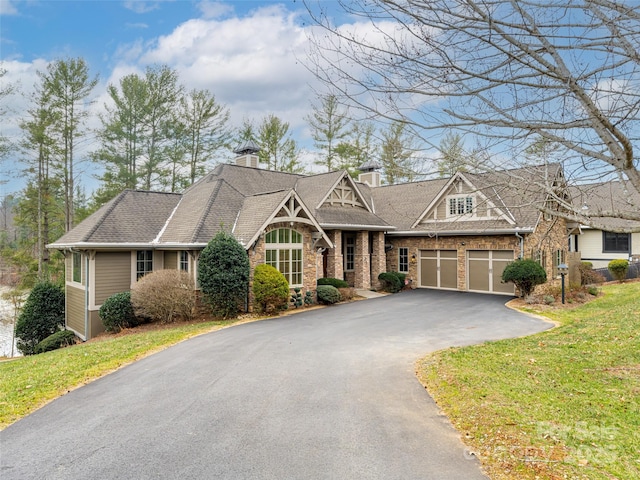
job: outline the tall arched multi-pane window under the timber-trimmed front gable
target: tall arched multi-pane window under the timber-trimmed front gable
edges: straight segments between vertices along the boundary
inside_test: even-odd
[[[292,287],[302,286],[302,234],[277,228],[265,235],[265,263],[277,268]]]

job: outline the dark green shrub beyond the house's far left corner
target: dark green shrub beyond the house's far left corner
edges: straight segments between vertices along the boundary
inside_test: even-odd
[[[33,355],[35,347],[64,326],[64,292],[50,282],[36,284],[16,321],[18,350]]]

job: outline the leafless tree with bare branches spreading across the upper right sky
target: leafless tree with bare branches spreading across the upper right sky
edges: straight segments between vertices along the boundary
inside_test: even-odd
[[[586,212],[559,193],[551,175],[531,178],[562,207],[554,214],[596,228],[611,218],[640,221],[637,3],[340,4],[356,23],[336,27],[321,2],[307,1],[320,27],[311,68],[352,110],[403,121],[427,141],[451,129],[472,132],[486,168],[527,165],[525,151],[544,139],[562,149],[572,184],[616,179],[628,192],[611,208]]]

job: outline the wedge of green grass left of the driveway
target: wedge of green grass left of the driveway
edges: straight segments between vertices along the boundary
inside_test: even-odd
[[[0,362],[0,430],[128,363],[234,321],[177,324]]]

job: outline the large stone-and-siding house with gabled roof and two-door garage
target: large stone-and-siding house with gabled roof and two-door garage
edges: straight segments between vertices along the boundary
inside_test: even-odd
[[[101,332],[102,302],[151,271],[197,279],[199,255],[220,229],[244,246],[251,271],[273,265],[305,291],[320,277],[378,288],[380,273],[397,270],[413,288],[513,295],[500,281],[507,263],[533,255],[551,274],[565,259],[566,225],[538,213],[546,197],[531,182],[458,173],[380,186],[372,163],[355,181],[346,171],[260,169],[251,144],[236,153],[235,164],[181,194],[125,190],[48,245],[66,258],[68,329],[83,339]],[[563,184],[560,169],[551,175]]]

